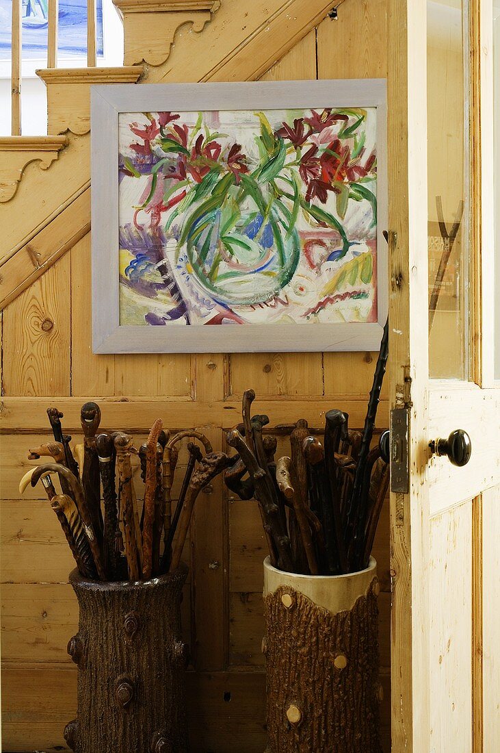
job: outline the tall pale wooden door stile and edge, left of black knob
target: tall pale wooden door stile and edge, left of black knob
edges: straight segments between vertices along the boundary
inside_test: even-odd
[[[410,413],[411,468],[390,495],[395,753],[430,736],[426,18],[425,0],[389,0],[389,390]]]

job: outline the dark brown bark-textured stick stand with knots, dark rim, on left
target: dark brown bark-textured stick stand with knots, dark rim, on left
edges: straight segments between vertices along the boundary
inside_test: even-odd
[[[180,601],[187,569],[150,581],[69,578],[80,626],[68,644],[78,666],[76,753],[185,753],[186,651]]]

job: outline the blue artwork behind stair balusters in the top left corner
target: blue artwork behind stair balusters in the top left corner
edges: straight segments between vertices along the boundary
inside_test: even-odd
[[[0,0],[0,60],[11,59],[12,0]],[[23,0],[23,59],[47,56],[47,0]],[[97,54],[104,52],[102,0],[97,0]],[[59,56],[86,55],[86,0],[59,0]]]

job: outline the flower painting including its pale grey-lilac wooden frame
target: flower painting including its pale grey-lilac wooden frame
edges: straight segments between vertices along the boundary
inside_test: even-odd
[[[383,80],[92,87],[94,352],[377,349]]]

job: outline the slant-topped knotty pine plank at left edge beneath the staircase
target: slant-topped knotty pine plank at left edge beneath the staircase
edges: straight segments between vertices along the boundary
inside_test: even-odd
[[[69,257],[59,260],[5,309],[4,391],[8,395],[68,395],[71,298]]]

